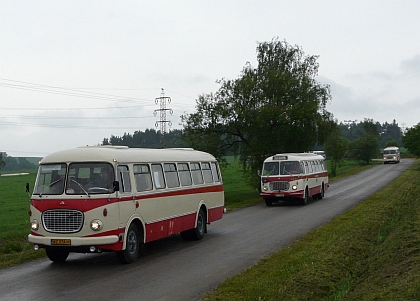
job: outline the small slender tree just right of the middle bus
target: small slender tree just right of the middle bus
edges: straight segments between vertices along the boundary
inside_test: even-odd
[[[325,152],[331,160],[331,176],[337,175],[337,167],[339,167],[346,155],[349,147],[349,140],[341,137],[341,127],[337,125],[331,135],[325,141]]]

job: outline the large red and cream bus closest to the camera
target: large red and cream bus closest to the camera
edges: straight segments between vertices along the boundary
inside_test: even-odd
[[[70,252],[116,251],[131,263],[147,242],[176,233],[201,239],[223,213],[222,177],[208,153],[80,147],[40,161],[28,240],[56,262]]]

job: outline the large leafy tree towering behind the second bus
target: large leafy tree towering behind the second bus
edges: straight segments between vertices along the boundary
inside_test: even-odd
[[[315,79],[317,59],[286,41],[259,43],[257,67],[247,63],[239,78],[199,96],[197,112],[184,116],[184,139],[219,160],[238,155],[256,185],[265,157],[311,150],[335,125],[326,110],[329,86]]]

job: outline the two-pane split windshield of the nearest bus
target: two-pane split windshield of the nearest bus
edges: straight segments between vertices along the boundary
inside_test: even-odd
[[[112,193],[114,168],[109,163],[40,165],[34,194],[69,195]],[[65,189],[64,189],[65,188]]]

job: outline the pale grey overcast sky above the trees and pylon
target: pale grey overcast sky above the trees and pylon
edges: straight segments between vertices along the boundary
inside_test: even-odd
[[[420,1],[0,0],[0,151],[42,157],[195,111],[273,38],[319,55],[340,122],[420,122]]]

